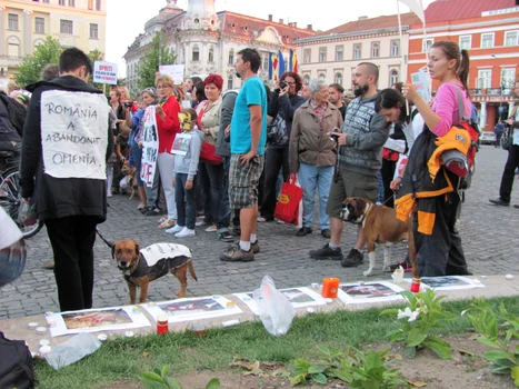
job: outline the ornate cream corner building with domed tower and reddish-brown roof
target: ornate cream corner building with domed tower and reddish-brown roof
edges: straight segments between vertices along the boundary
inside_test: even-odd
[[[187,11],[180,9],[176,0],[169,0],[159,14],[144,24],[144,33],[137,37],[124,54],[130,90],[137,89],[139,60],[159,31],[163,33],[162,44],[177,54],[176,63],[184,64],[184,78],[218,73],[223,77],[224,90],[241,86],[233,69],[241,49],[251,47],[260,52],[259,76],[267,80],[269,52],[281,51],[288,59],[297,39],[316,33],[311,26],[300,29],[283,20],[275,22],[271,16],[263,20],[229,11],[217,13],[214,0],[189,0]]]

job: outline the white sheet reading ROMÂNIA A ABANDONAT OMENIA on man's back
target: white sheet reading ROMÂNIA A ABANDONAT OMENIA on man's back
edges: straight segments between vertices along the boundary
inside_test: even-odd
[[[41,94],[46,174],[104,180],[108,111],[104,94],[49,90]]]

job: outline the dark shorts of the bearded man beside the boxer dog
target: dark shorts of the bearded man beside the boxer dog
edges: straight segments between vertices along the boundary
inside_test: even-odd
[[[332,181],[326,211],[328,216],[340,218],[347,197],[361,197],[377,201],[377,176],[367,176],[340,169],[337,182]]]

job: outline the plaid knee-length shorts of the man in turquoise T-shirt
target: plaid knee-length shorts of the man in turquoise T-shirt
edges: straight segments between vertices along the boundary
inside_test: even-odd
[[[241,164],[241,154],[231,154],[229,169],[229,202],[231,209],[252,208],[258,205],[258,184],[263,171],[265,157],[254,157],[249,166]]]

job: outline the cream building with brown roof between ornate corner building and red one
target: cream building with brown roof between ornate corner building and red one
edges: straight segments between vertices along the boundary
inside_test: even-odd
[[[319,77],[328,83],[340,83],[348,94],[352,92],[351,74],[359,62],[373,62],[379,67],[379,89],[403,81],[408,29],[417,21],[413,13],[401,14],[402,37],[398,17],[393,14],[371,19],[360,17],[357,21],[299,39],[296,42],[299,72],[306,82]]]

